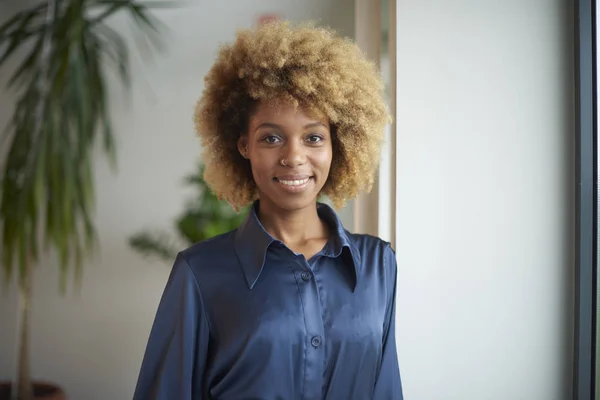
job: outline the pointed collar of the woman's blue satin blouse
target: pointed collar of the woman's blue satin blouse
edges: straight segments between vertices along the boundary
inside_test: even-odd
[[[252,289],[260,277],[267,256],[267,250],[273,243],[281,243],[273,238],[263,225],[257,215],[258,200],[250,207],[248,215],[235,233],[234,247],[237,257],[242,265],[248,287]],[[344,252],[349,254],[344,261],[352,267],[354,272],[354,288],[358,282],[360,272],[360,253],[354,242],[344,229],[342,222],[335,211],[326,204],[317,203],[319,217],[327,223],[331,229],[331,237],[323,253],[327,257],[339,257]]]

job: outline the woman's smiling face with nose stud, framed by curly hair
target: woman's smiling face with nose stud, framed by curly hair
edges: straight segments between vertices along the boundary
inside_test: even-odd
[[[331,168],[327,118],[260,102],[238,148],[250,160],[261,206],[293,211],[315,204]]]

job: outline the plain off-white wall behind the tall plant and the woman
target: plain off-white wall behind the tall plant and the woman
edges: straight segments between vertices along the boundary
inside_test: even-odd
[[[12,14],[14,3],[0,2],[0,19]],[[187,3],[186,8],[159,13],[171,30],[167,50],[152,62],[136,57],[131,101],[113,96],[119,169],[112,174],[104,162],[97,164],[101,251],[85,266],[81,293],[58,294],[58,271],[50,257],[35,279],[33,374],[61,384],[71,399],[125,400],[133,394],[170,265],[141,259],[126,240],[141,228],[169,228],[183,210],[189,193],[182,178],[194,171],[200,154],[193,108],[217,45],[233,39],[235,29],[253,25],[263,12],[296,21],[320,19],[353,35],[351,0]],[[121,19],[115,24],[131,31]],[[2,81],[5,77],[3,72]],[[1,126],[12,101],[0,91]],[[0,294],[0,380],[14,371],[16,307],[12,286]]]

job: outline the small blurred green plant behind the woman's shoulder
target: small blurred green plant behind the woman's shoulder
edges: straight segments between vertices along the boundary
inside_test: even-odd
[[[129,238],[129,245],[145,257],[171,262],[177,252],[194,243],[237,228],[247,210],[239,213],[219,200],[202,178],[204,168],[199,164],[195,173],[185,178],[196,190],[196,197],[175,221],[176,235],[165,232],[141,231]]]

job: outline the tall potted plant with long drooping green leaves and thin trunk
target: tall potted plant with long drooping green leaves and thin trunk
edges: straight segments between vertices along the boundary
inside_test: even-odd
[[[42,252],[54,250],[64,292],[71,273],[80,281],[95,247],[92,154],[99,141],[115,165],[107,68],[116,67],[125,86],[130,81],[126,41],[107,24],[119,12],[157,44],[157,21],[133,0],[38,2],[0,26],[0,67],[19,60],[8,82],[15,108],[0,141],[8,150],[0,177],[1,262],[7,284],[17,277],[21,297],[17,384],[0,385],[0,399],[11,391],[19,400],[64,398],[59,387],[31,380],[32,275]]]

